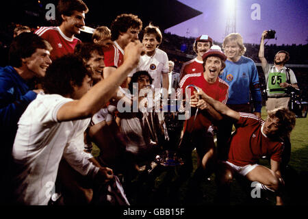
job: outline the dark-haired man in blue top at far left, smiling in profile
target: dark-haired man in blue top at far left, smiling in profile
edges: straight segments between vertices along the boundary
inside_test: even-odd
[[[10,172],[9,162],[17,122],[29,103],[36,99],[36,95],[40,92],[31,90],[27,82],[34,77],[44,77],[47,67],[51,64],[49,58],[51,49],[49,42],[36,34],[20,34],[10,45],[9,66],[0,68],[0,136],[3,154],[1,185],[8,179],[7,173]],[[6,185],[3,188],[10,187]],[[7,203],[5,194],[1,196],[1,203]]]

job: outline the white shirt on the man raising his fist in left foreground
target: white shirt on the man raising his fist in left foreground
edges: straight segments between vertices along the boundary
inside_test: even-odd
[[[73,101],[58,94],[38,94],[18,121],[12,150],[14,197],[25,205],[47,205],[55,185],[62,157],[81,175],[96,175],[99,168],[81,153],[84,130],[90,118],[57,121],[57,112]]]

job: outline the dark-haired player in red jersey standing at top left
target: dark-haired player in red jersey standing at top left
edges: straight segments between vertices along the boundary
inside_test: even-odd
[[[77,43],[81,41],[75,37],[84,27],[84,19],[88,7],[82,0],[60,0],[57,4],[58,27],[40,27],[34,33],[47,40],[53,47],[51,60],[74,53]]]

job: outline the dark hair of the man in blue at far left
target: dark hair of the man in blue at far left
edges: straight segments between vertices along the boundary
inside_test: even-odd
[[[33,33],[21,33],[13,39],[10,45],[9,61],[10,66],[19,68],[23,65],[21,59],[31,57],[36,49],[46,49],[51,51],[51,44]]]

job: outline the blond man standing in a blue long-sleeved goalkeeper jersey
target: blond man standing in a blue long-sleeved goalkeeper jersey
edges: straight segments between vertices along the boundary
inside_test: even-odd
[[[253,112],[260,118],[262,105],[259,75],[255,62],[243,56],[246,48],[242,36],[237,33],[229,34],[224,38],[222,49],[227,55],[227,60],[226,68],[219,77],[229,84],[228,107],[237,112]],[[217,140],[220,159],[227,158],[227,141],[231,136],[232,127],[231,120],[229,123],[224,120],[223,124],[218,127]]]

